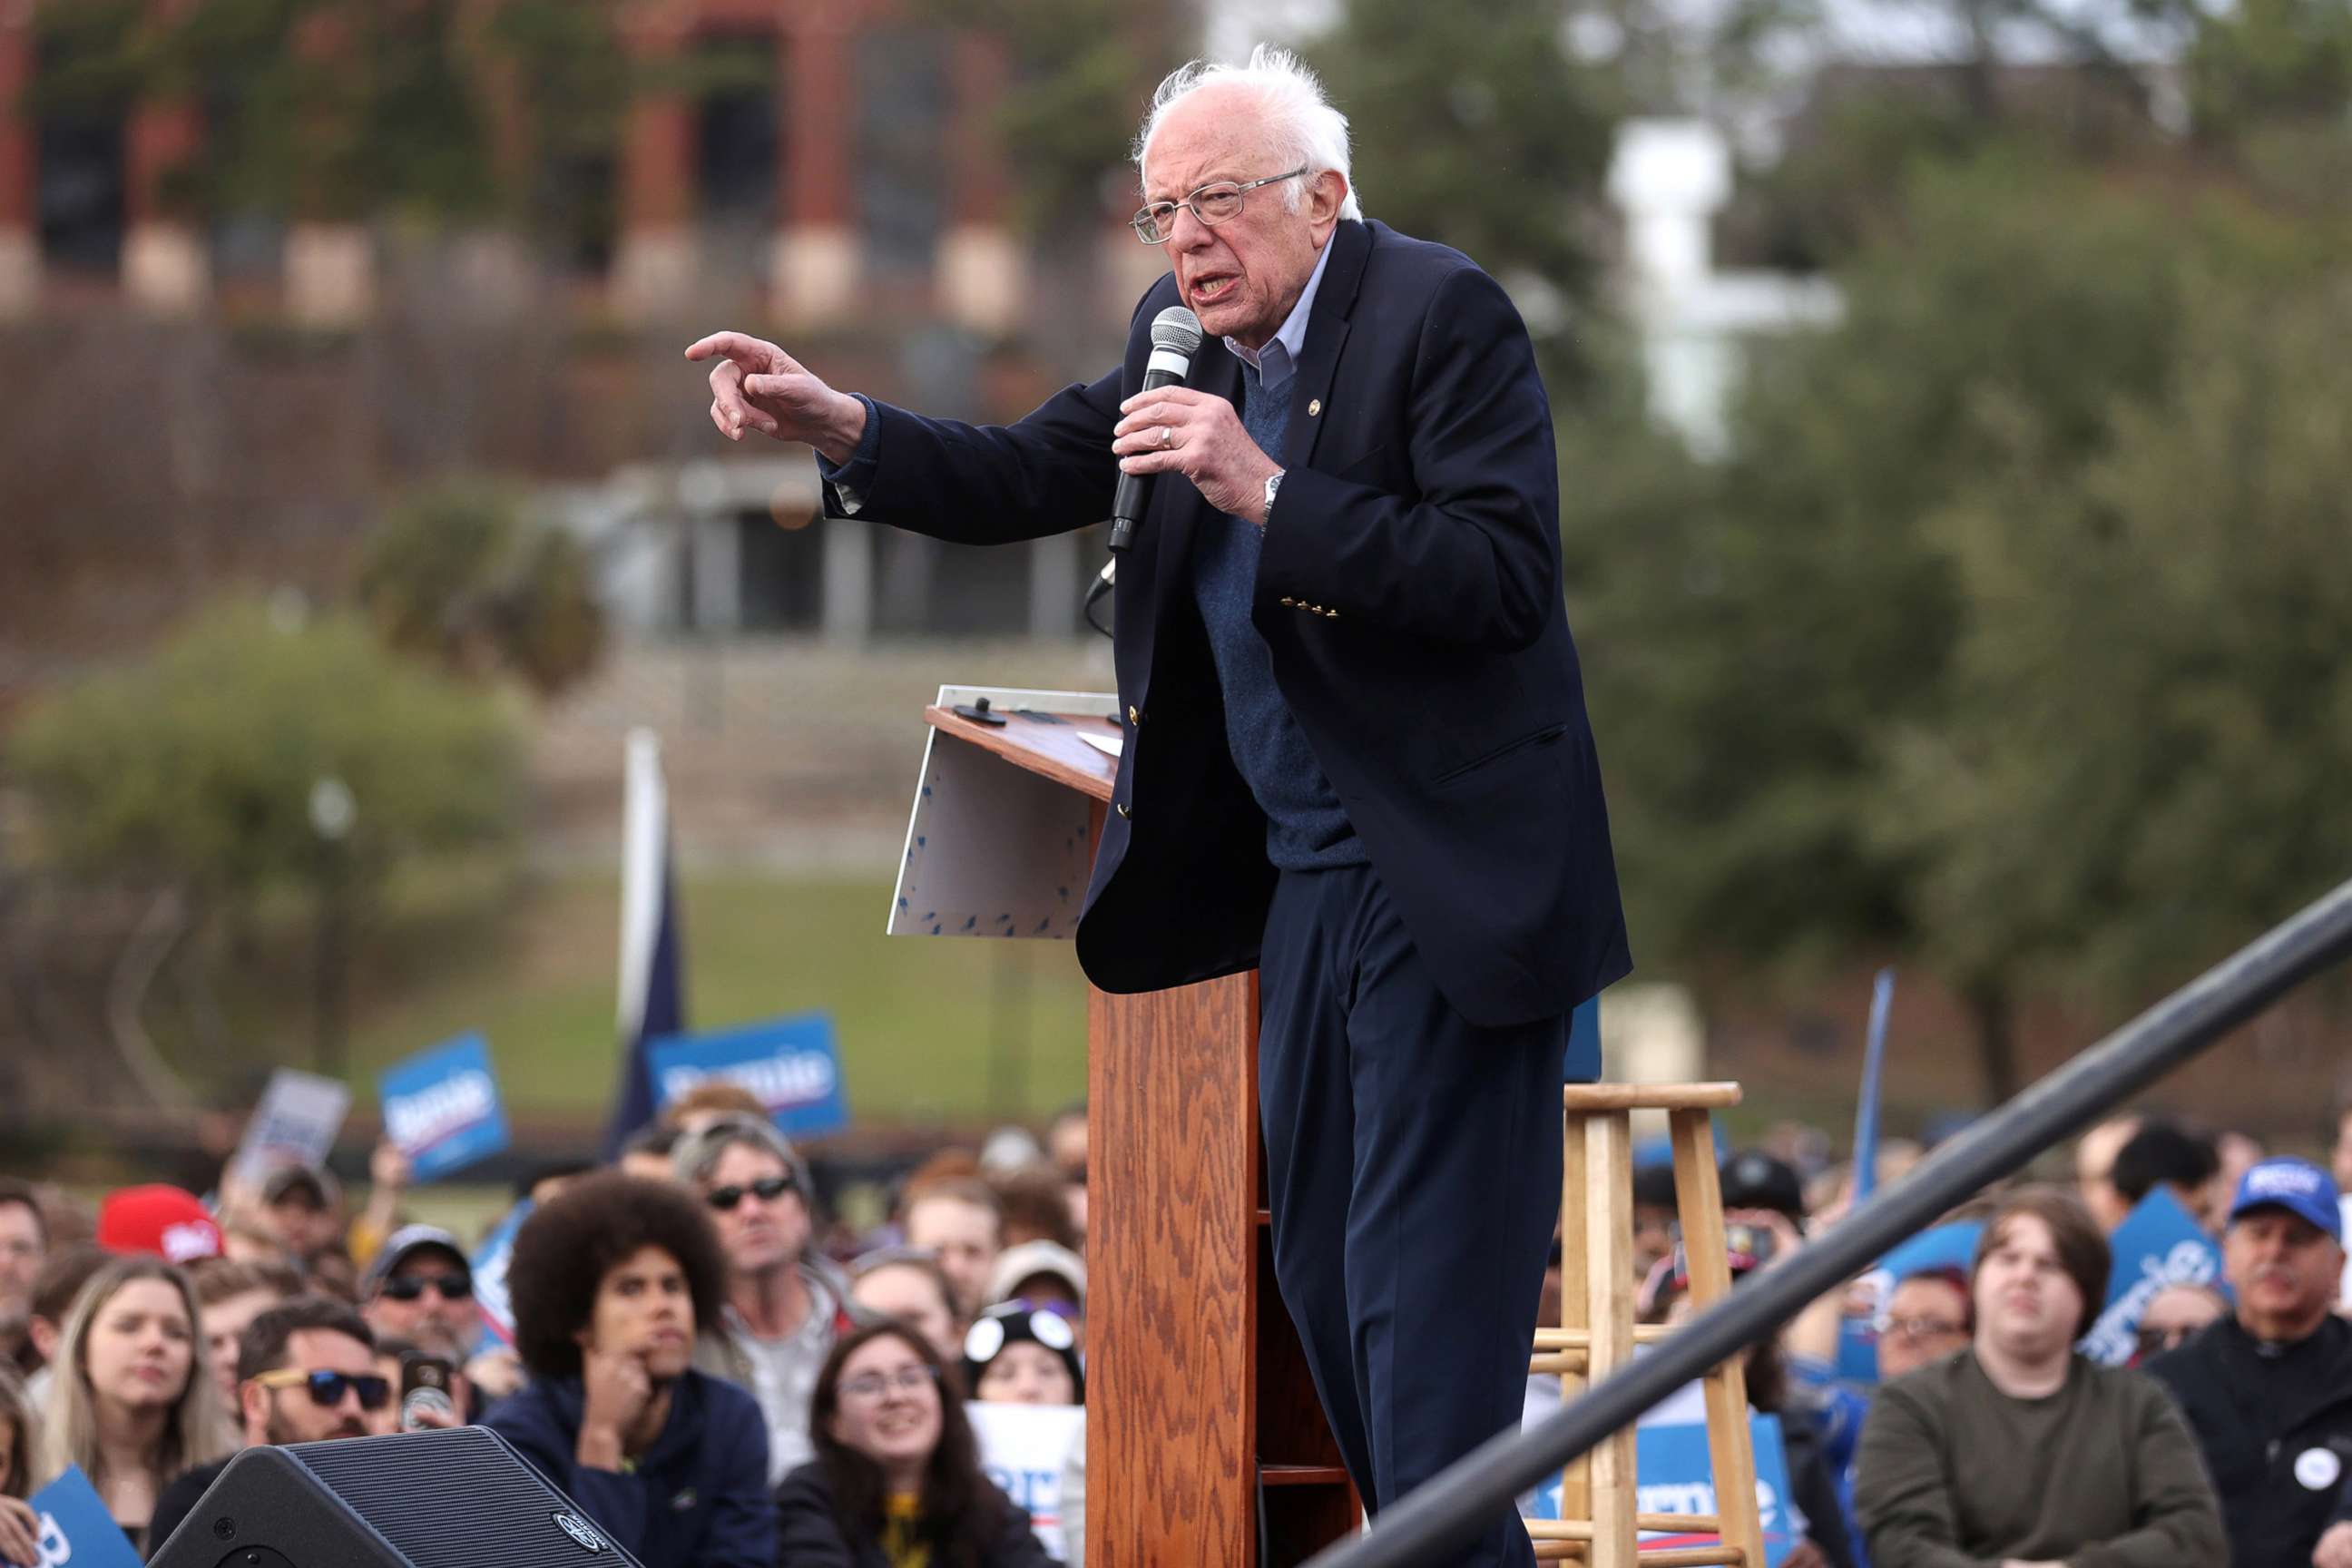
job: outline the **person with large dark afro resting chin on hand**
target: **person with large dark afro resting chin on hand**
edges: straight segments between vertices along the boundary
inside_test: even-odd
[[[774,1568],[760,1406],[691,1366],[727,1293],[694,1194],[579,1180],[522,1222],[506,1286],[532,1385],[485,1425],[644,1568]]]

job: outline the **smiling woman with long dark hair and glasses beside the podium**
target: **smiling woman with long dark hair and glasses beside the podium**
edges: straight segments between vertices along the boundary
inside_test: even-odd
[[[1051,1568],[981,1472],[957,1373],[906,1324],[842,1338],[809,1403],[816,1458],[776,1493],[790,1568]]]

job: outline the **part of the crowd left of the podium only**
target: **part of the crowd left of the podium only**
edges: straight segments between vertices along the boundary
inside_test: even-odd
[[[240,1448],[461,1422],[647,1568],[1077,1561],[993,1479],[967,1406],[1082,1410],[1084,1171],[1073,1110],[1044,1143],[931,1157],[849,1234],[715,1084],[612,1168],[529,1180],[496,1281],[409,1222],[388,1147],[358,1213],[318,1166],[94,1208],[5,1178],[0,1563],[42,1561],[26,1497],[68,1469],[155,1556]]]

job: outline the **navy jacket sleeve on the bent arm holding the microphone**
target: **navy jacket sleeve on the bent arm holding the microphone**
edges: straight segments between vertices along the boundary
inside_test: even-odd
[[[1559,599],[1559,458],[1536,350],[1486,273],[1465,266],[1437,287],[1404,421],[1421,498],[1287,473],[1258,597],[1428,642],[1529,646]]]

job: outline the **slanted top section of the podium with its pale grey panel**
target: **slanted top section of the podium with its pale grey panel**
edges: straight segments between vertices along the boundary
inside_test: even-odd
[[[1002,686],[941,686],[938,705],[981,696],[1004,715],[1117,715],[1110,693]],[[1070,940],[1091,870],[1091,802],[1084,795],[934,729],[906,827],[889,933]]]

